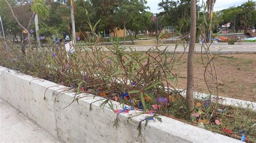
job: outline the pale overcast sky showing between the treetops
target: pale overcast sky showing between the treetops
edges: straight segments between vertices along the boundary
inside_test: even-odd
[[[150,7],[151,12],[157,13],[160,12],[161,10],[158,10],[158,3],[161,2],[162,0],[147,0],[147,6]],[[206,0],[204,0],[206,1]],[[201,4],[202,0],[200,0]],[[216,3],[214,5],[214,11],[219,11],[223,10],[226,8],[229,8],[230,6],[238,6],[241,5],[244,2],[248,2],[248,0],[216,0]]]

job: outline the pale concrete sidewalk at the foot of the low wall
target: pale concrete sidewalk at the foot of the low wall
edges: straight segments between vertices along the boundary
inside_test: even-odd
[[[0,142],[57,142],[51,135],[0,99]]]

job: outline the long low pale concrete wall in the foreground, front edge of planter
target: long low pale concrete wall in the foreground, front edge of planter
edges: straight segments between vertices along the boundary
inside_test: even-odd
[[[171,118],[160,116],[163,123],[150,120],[142,135],[137,138],[138,121],[149,115],[132,118],[120,113],[119,127],[113,127],[116,114],[101,102],[99,97],[86,97],[65,108],[75,95],[73,92],[59,94],[68,89],[46,80],[17,74],[14,70],[0,67],[0,98],[9,102],[19,111],[49,131],[62,142],[240,142],[203,128],[185,124]],[[44,94],[47,102],[44,101]],[[55,102],[55,96],[59,94]],[[89,111],[90,103],[92,111]],[[116,108],[119,103],[112,101]],[[135,113],[139,111],[130,111]]]

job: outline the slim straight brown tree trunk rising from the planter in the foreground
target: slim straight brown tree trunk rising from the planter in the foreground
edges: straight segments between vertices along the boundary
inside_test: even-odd
[[[190,16],[190,47],[187,56],[187,109],[189,112],[194,110],[194,47],[196,42],[196,0],[191,0],[191,16]]]

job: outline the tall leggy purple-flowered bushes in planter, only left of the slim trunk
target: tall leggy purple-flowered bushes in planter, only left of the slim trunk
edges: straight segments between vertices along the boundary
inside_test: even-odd
[[[90,25],[93,31],[96,26],[97,24]],[[51,34],[58,37],[59,31],[55,28],[45,24],[41,27],[40,33],[45,37],[50,39]],[[96,39],[99,38],[96,33],[93,35]],[[141,108],[140,103],[145,111],[152,109],[151,105],[156,104],[156,98],[169,98],[169,94],[175,91],[169,88],[166,92],[165,85],[175,86],[176,82],[170,80],[175,78],[171,70],[180,58],[167,54],[166,51],[159,52],[159,49],[151,48],[148,52],[141,53],[131,48],[119,47],[117,43],[106,46],[108,52],[105,52],[102,46],[92,43],[95,46],[90,48],[76,45],[76,52],[68,58],[63,44],[55,45],[50,42],[39,51],[29,50],[26,55],[22,55],[15,45],[9,51],[1,49],[0,65],[73,87],[78,93],[86,91],[107,99],[113,99],[115,95],[120,102],[137,108]],[[129,92],[129,98],[134,101],[122,99],[124,92]],[[102,105],[107,103],[109,101]]]

